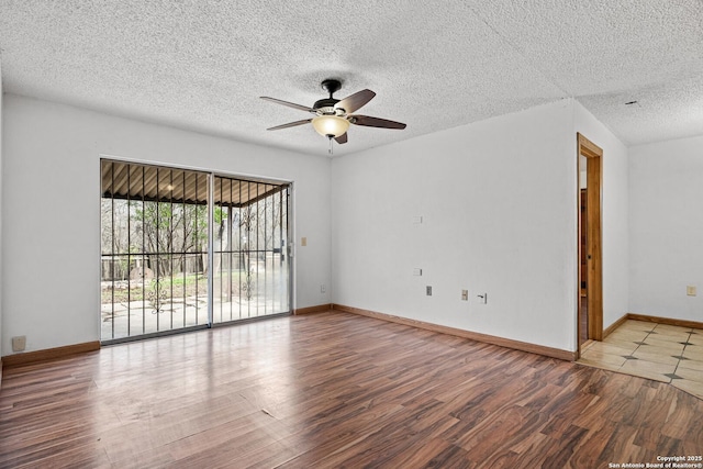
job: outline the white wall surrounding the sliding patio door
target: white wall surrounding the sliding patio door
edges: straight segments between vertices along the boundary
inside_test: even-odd
[[[295,308],[328,303],[330,160],[5,94],[2,355],[99,339],[100,156],[294,181]]]

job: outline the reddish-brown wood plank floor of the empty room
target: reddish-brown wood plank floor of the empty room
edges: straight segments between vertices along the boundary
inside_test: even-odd
[[[5,369],[0,467],[606,468],[703,450],[673,387],[339,312]]]

